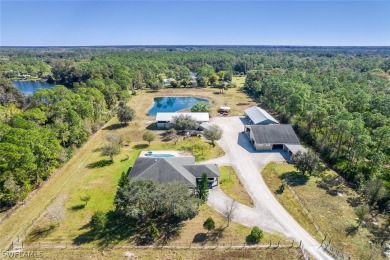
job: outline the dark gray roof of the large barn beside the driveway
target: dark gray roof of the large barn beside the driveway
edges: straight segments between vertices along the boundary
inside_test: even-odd
[[[291,125],[251,125],[250,128],[258,144],[299,144]]]

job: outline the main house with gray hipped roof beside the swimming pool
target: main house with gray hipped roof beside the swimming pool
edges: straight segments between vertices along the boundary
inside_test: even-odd
[[[193,156],[150,158],[139,157],[129,173],[129,180],[149,179],[158,183],[179,182],[191,188],[198,187],[202,173],[207,174],[209,187],[218,185],[216,164],[195,164]]]

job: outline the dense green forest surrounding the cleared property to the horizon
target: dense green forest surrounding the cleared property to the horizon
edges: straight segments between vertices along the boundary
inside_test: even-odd
[[[23,73],[56,86],[23,96],[12,85]],[[390,206],[390,48],[162,46],[0,49],[0,209],[24,200],[132,95],[226,89],[237,74],[355,189],[374,181],[375,204]]]

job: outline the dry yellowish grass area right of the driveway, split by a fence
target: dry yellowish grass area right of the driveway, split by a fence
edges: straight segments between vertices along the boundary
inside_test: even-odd
[[[270,163],[262,171],[263,178],[271,191],[277,191],[288,175],[300,174],[291,164]],[[337,174],[327,170],[324,175],[337,177]],[[306,183],[291,186],[299,196],[314,222],[319,226],[327,239],[338,250],[347,253],[352,259],[359,259],[370,251],[372,235],[366,228],[359,228],[356,234],[348,233],[351,227],[357,225],[354,208],[348,203],[349,198],[357,194],[350,188],[339,187],[340,195],[330,195],[326,190],[318,187],[321,177],[311,176]],[[318,241],[321,237],[311,224],[301,205],[292,192],[286,187],[281,194],[274,193],[277,200]]]

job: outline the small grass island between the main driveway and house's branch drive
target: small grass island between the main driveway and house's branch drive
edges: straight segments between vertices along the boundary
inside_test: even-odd
[[[219,167],[219,188],[230,198],[239,203],[253,207],[253,200],[242,185],[236,171],[231,166]]]

